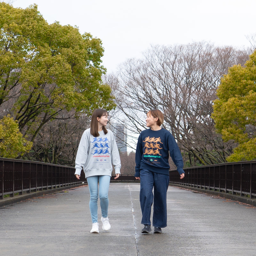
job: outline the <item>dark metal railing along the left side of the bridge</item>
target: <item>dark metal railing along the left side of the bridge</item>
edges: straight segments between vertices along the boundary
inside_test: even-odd
[[[75,168],[34,161],[0,158],[0,199],[19,193],[61,188],[81,184],[84,172],[77,180]]]

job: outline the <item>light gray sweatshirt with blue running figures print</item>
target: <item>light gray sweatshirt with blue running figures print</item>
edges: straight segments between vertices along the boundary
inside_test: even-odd
[[[85,178],[95,175],[108,175],[111,177],[115,167],[115,173],[120,173],[121,162],[112,131],[107,134],[99,132],[99,137],[92,136],[90,128],[85,130],[79,143],[76,154],[76,172],[81,175],[84,169]]]

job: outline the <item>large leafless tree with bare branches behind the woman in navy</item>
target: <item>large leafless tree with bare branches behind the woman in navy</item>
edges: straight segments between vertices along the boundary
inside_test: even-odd
[[[128,60],[108,76],[116,97],[116,116],[125,116],[136,138],[149,109],[164,113],[164,128],[176,138],[189,165],[225,162],[231,142],[223,143],[211,118],[216,89],[228,68],[244,65],[250,49],[214,47],[205,42],[152,46],[141,60]]]

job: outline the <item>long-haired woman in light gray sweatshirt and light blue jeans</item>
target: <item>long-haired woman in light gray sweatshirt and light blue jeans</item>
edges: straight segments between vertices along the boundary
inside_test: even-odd
[[[106,129],[107,123],[108,112],[101,108],[95,109],[90,128],[84,131],[76,154],[76,178],[79,180],[83,169],[90,190],[91,233],[99,233],[98,197],[100,197],[102,229],[104,231],[110,229],[108,188],[113,170],[112,164],[116,173],[114,179],[120,175],[120,156],[113,132]]]

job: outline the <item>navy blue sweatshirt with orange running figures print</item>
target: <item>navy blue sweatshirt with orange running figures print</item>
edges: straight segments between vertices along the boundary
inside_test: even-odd
[[[180,149],[169,131],[164,128],[158,131],[142,131],[136,148],[134,176],[140,177],[142,169],[169,175],[169,152],[179,174],[185,173]]]

